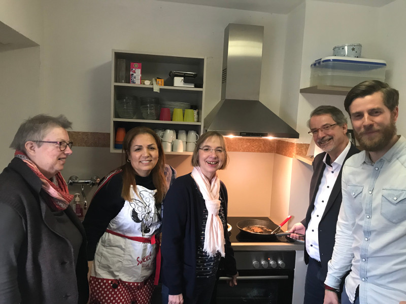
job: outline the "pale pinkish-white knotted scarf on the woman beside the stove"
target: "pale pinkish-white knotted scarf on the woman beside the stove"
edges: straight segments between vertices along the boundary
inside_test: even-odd
[[[221,256],[225,256],[224,228],[219,217],[220,179],[216,173],[216,175],[209,182],[207,177],[201,173],[199,167],[193,167],[192,177],[199,187],[203,198],[205,199],[206,208],[209,212],[206,222],[205,246],[203,250],[210,256],[214,256],[217,251],[220,252]]]

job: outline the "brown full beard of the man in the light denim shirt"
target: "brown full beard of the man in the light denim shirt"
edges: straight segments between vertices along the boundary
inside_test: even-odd
[[[389,125],[381,129],[380,134],[377,134],[375,138],[367,138],[363,133],[364,132],[357,133],[354,130],[355,138],[358,140],[361,148],[371,152],[381,151],[385,149],[393,136],[396,135],[395,121],[393,117],[391,117]]]

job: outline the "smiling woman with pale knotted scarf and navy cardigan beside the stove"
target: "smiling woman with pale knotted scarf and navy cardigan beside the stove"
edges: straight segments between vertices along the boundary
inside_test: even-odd
[[[193,151],[191,173],[166,194],[162,220],[162,303],[210,303],[220,259],[236,285],[238,272],[227,233],[227,189],[217,170],[228,156],[223,136],[204,133]]]

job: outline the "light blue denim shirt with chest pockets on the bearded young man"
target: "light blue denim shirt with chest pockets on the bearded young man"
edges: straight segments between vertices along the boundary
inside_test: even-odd
[[[351,301],[398,304],[406,299],[406,139],[375,164],[362,151],[343,167],[343,202],[325,284],[346,278]]]

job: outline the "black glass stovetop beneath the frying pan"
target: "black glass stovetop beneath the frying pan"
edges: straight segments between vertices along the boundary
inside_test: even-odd
[[[274,223],[272,220],[270,220],[267,217],[244,217],[244,216],[228,216],[227,217],[227,222],[231,225],[231,231],[229,232],[230,234],[230,242],[231,243],[293,243],[294,240],[286,237],[278,237],[275,240],[275,237],[269,237],[266,235],[254,235],[254,234],[249,234],[245,232],[241,232],[240,229],[237,227],[237,223],[239,221],[245,220],[245,219],[260,219],[260,220],[265,220],[270,223],[272,223],[272,226],[274,229],[278,227],[276,223]]]

